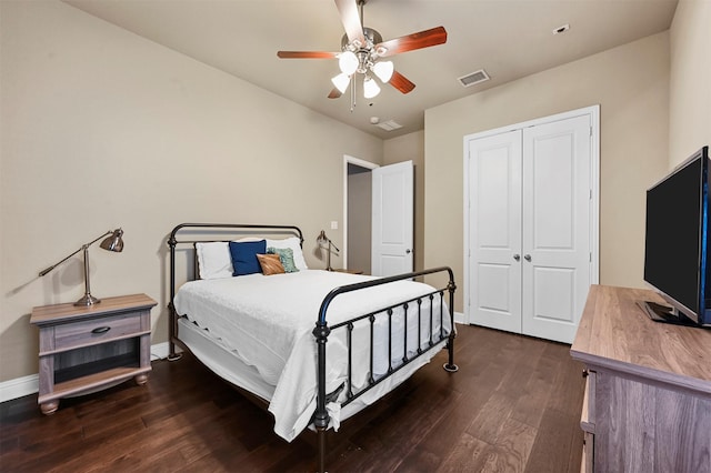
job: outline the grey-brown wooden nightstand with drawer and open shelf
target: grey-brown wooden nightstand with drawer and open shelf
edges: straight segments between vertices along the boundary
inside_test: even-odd
[[[89,394],[151,371],[151,309],[146,294],[106,298],[89,308],[72,303],[32,309],[40,330],[38,403],[44,414],[61,397]]]

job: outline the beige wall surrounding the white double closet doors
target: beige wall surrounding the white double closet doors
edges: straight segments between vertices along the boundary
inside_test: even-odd
[[[461,288],[465,134],[597,103],[600,281],[642,286],[644,191],[667,169],[668,32],[427,110],[424,265],[451,265]]]

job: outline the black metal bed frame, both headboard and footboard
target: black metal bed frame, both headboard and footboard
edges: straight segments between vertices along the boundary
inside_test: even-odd
[[[188,346],[186,346],[184,343],[182,343],[180,341],[180,339],[178,338],[178,319],[181,318],[181,315],[179,315],[176,312],[176,308],[173,306],[173,299],[176,296],[176,290],[177,290],[177,284],[176,284],[176,249],[178,245],[182,245],[182,244],[191,244],[194,245],[196,243],[204,243],[204,242],[214,242],[214,241],[226,241],[226,240],[209,240],[209,239],[189,239],[189,240],[178,240],[178,233],[183,230],[186,232],[192,232],[192,233],[209,233],[211,232],[212,234],[216,233],[231,233],[233,236],[236,236],[237,234],[244,234],[244,233],[256,233],[256,232],[260,232],[261,235],[264,234],[292,234],[292,235],[297,235],[300,241],[301,241],[301,245],[303,246],[303,234],[301,232],[301,230],[298,227],[293,227],[293,225],[260,225],[260,224],[240,224],[240,223],[181,223],[179,225],[177,225],[176,228],[173,228],[173,230],[170,232],[170,236],[168,239],[168,246],[170,248],[170,302],[169,302],[169,348],[170,348],[170,354],[168,356],[169,360],[174,361],[180,359],[179,354],[176,354],[176,344],[179,344],[183,350],[186,351],[190,351],[188,349]],[[365,288],[372,288],[372,286],[377,286],[377,285],[382,285],[382,284],[388,284],[394,281],[402,281],[402,280],[411,280],[413,278],[419,278],[419,276],[423,276],[423,275],[428,275],[428,274],[435,274],[435,273],[448,273],[449,276],[449,281],[447,283],[447,286],[443,289],[439,289],[439,290],[434,290],[429,294],[424,294],[422,296],[415,298],[415,299],[410,299],[407,301],[402,301],[399,302],[395,305],[390,305],[390,306],[385,306],[382,308],[378,311],[373,311],[370,313],[365,313],[359,316],[356,316],[351,320],[334,324],[332,326],[329,326],[328,324],[328,319],[327,319],[327,313],[328,313],[328,309],[329,305],[331,304],[331,302],[333,302],[333,300],[336,298],[338,298],[340,294],[344,294],[348,292],[353,292],[353,291],[358,291],[358,290],[362,290]],[[197,274],[197,263],[196,263],[196,274]],[[194,275],[193,275],[194,278]],[[429,270],[424,270],[424,271],[415,271],[415,272],[410,272],[410,273],[404,273],[404,274],[398,274],[398,275],[393,275],[393,276],[388,276],[388,278],[380,278],[380,279],[375,279],[375,280],[370,280],[370,281],[364,281],[364,282],[359,282],[359,283],[354,283],[354,284],[348,284],[348,285],[342,285],[339,288],[333,289],[322,301],[321,303],[321,308],[319,310],[318,313],[318,319],[316,321],[316,328],[313,329],[313,336],[314,336],[314,343],[317,343],[317,380],[318,380],[318,385],[317,385],[317,407],[316,407],[316,412],[313,413],[312,416],[312,422],[313,425],[316,427],[317,431],[317,436],[318,436],[318,467],[319,467],[319,472],[326,472],[326,431],[328,429],[329,422],[330,422],[330,415],[326,409],[328,402],[330,402],[332,399],[338,397],[338,395],[341,393],[341,391],[346,390],[346,400],[341,403],[341,406],[346,406],[348,404],[350,404],[351,402],[353,402],[356,399],[358,399],[359,396],[361,396],[362,394],[364,394],[365,392],[370,391],[372,388],[374,388],[375,385],[378,385],[379,383],[381,383],[382,381],[387,380],[388,378],[390,378],[392,374],[394,374],[395,372],[398,372],[399,370],[401,370],[403,366],[405,366],[407,364],[411,363],[412,361],[417,360],[419,356],[421,356],[422,354],[427,353],[428,351],[430,351],[431,349],[433,349],[437,344],[439,344],[440,342],[442,342],[443,340],[447,340],[447,344],[445,348],[449,351],[449,359],[448,362],[444,363],[443,368],[445,371],[453,373],[457,372],[459,370],[459,368],[457,366],[457,364],[454,364],[454,338],[455,338],[455,329],[454,329],[454,291],[457,289],[457,285],[454,284],[454,274],[452,272],[452,270],[449,266],[440,266],[440,268],[433,268],[433,269],[429,269]],[[444,329],[443,329],[443,318],[444,315],[444,310],[443,310],[443,302],[444,302],[444,293],[449,294],[449,302],[448,302],[448,309],[449,309],[449,313],[447,314],[450,319],[450,333],[449,334],[444,334]],[[428,299],[430,300],[430,309],[429,311],[424,311],[424,312],[429,312],[423,314],[422,311],[422,301],[423,299]],[[434,313],[433,304],[432,301],[434,298],[440,298],[440,310],[439,310],[439,314]],[[418,343],[418,349],[417,349],[417,354],[412,355],[412,356],[408,356],[408,352],[407,350],[404,350],[404,356],[402,359],[402,364],[393,368],[392,365],[392,313],[393,310],[395,308],[402,308],[404,310],[405,316],[404,316],[404,323],[405,323],[405,328],[402,331],[402,341],[403,341],[403,346],[408,346],[408,330],[407,330],[407,313],[408,310],[411,306],[414,306],[414,310],[418,313],[418,340],[422,340],[421,339],[421,326],[422,326],[422,321],[424,320],[425,322],[428,322],[429,320],[429,328],[430,328],[430,340],[429,343],[427,344],[425,348],[421,348],[419,346]],[[389,330],[389,336],[388,336],[388,348],[389,348],[389,360],[390,360],[390,365],[388,366],[388,372],[383,375],[381,375],[380,378],[374,378],[373,376],[373,328],[374,328],[374,323],[375,320],[379,316],[387,316],[388,318],[388,330]],[[439,323],[440,323],[440,330],[439,333],[437,333],[437,331],[434,333],[432,333],[432,328],[433,328],[433,322],[435,320],[435,318],[439,318]],[[368,383],[364,388],[360,389],[357,392],[353,392],[353,385],[352,385],[352,380],[351,380],[351,368],[352,368],[352,346],[351,346],[351,334],[354,328],[354,324],[357,322],[361,322],[361,323],[370,323],[370,372],[369,372],[369,379],[368,379]],[[328,339],[329,335],[334,331],[334,330],[344,330],[346,331],[346,340],[347,340],[347,348],[348,348],[348,381],[346,383],[343,383],[343,385],[341,385],[338,390],[336,390],[332,393],[327,393],[326,392],[326,385],[327,385],[327,379],[326,379],[326,359],[327,359],[327,343],[328,343]],[[238,386],[239,388],[239,386]]]

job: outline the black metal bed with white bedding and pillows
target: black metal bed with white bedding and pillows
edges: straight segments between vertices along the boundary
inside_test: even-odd
[[[327,429],[338,430],[442,349],[444,370],[458,370],[455,284],[449,268],[389,278],[309,269],[302,244],[292,225],[177,225],[168,239],[169,359],[180,345],[263,400],[287,441],[316,430],[324,471]],[[437,274],[447,278],[442,289],[417,281]]]

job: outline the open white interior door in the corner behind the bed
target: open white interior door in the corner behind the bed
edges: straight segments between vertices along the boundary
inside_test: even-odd
[[[414,187],[412,161],[372,170],[373,275],[412,272]]]

